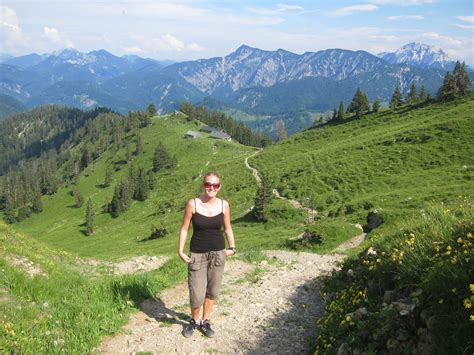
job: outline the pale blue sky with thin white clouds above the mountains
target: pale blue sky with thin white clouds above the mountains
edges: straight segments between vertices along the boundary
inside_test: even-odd
[[[246,44],[294,53],[393,52],[410,42],[474,65],[471,0],[0,0],[0,53],[105,49],[158,60],[225,56]]]

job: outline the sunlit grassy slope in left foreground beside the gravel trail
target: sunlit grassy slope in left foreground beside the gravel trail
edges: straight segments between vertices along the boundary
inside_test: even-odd
[[[8,261],[25,257],[45,276],[29,278]],[[89,353],[103,336],[119,331],[143,299],[183,281],[185,275],[177,257],[142,275],[96,273],[73,254],[0,222],[1,352]]]

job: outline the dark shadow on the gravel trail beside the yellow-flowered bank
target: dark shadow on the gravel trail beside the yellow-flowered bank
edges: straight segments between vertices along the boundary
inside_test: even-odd
[[[316,321],[324,311],[319,281],[318,277],[297,286],[284,305],[275,303],[275,315],[259,326],[257,342],[242,339],[239,348],[249,354],[314,353],[318,336]]]

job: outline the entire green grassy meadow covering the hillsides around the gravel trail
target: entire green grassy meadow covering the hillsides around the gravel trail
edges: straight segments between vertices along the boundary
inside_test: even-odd
[[[142,154],[127,161],[124,148],[110,148],[81,173],[78,185],[43,196],[42,213],[15,225],[0,224],[0,350],[93,352],[103,336],[120,330],[141,300],[184,281],[186,269],[176,257],[183,209],[200,193],[202,175],[216,171],[223,178],[221,197],[230,203],[242,260],[258,262],[264,258],[261,250],[276,248],[327,253],[360,234],[353,224],[365,224],[369,211],[383,217],[384,223],[348,252],[343,271],[324,281],[327,307],[315,350],[334,353],[334,347],[344,345],[376,353],[389,343],[413,349],[413,324],[426,323],[420,320],[426,309],[438,321],[434,334],[449,338],[443,349],[472,351],[466,344],[474,342],[469,332],[474,319],[473,112],[470,94],[349,118],[265,148],[250,164],[282,196],[318,211],[309,218],[305,210],[273,199],[265,223],[249,213],[257,183],[244,161],[255,148],[208,137],[185,139],[186,131],[202,124],[179,114],[153,117],[150,126],[139,129]],[[125,139],[133,148],[135,133]],[[151,168],[159,142],[176,156],[177,167],[156,173],[156,187],[146,201],[133,201],[128,211],[111,217],[106,206],[114,187],[132,164]],[[108,167],[113,182],[104,188]],[[84,233],[86,203],[75,206],[73,189],[93,201],[90,236]],[[163,225],[167,235],[149,240],[153,225]],[[297,238],[304,232],[316,242]],[[81,261],[137,255],[171,259],[159,270],[129,276],[92,270]],[[30,278],[12,265],[12,258],[26,258],[48,276]],[[385,291],[414,304],[416,314],[394,314],[384,302]],[[354,319],[362,306],[367,317]],[[451,324],[456,326],[446,326]]]

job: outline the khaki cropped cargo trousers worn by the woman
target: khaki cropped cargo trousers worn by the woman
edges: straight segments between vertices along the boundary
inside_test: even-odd
[[[190,253],[190,258],[189,302],[192,308],[198,308],[204,304],[204,298],[215,300],[219,295],[227,256],[223,249],[207,253]]]

